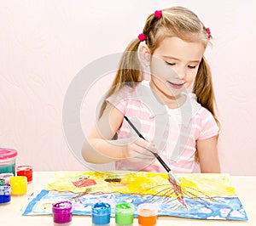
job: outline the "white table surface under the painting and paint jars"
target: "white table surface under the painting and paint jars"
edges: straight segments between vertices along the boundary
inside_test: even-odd
[[[44,189],[49,178],[53,177],[55,172],[33,172],[33,181],[27,185],[26,195],[12,196],[9,204],[0,205],[0,225],[32,225],[32,226],[48,226],[54,225],[51,215],[46,216],[22,216],[22,212],[28,203],[28,197],[32,194],[38,194]],[[236,189],[236,194],[241,200],[241,204],[247,212],[248,221],[228,221],[228,220],[197,220],[176,217],[159,217],[157,225],[165,226],[205,226],[205,225],[240,225],[240,226],[256,226],[256,177],[236,177],[231,176],[231,184]],[[91,225],[90,216],[73,216],[70,225]],[[110,225],[115,225],[114,218],[111,218]],[[137,218],[134,219],[134,226],[138,225]]]

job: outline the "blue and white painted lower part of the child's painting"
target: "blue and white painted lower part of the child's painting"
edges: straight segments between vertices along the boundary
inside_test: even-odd
[[[96,202],[106,202],[115,206],[120,202],[131,202],[135,206],[134,217],[137,218],[137,206],[144,202],[154,202],[158,205],[158,216],[173,216],[195,219],[222,219],[222,220],[247,220],[247,213],[238,197],[218,197],[214,199],[184,198],[188,206],[186,209],[177,200],[166,196],[131,195],[131,194],[87,194],[74,198],[72,192],[59,192],[42,190],[26,207],[23,215],[51,214],[49,206],[56,201],[72,201],[73,215],[90,215],[91,208]],[[39,202],[40,201],[40,202]],[[40,203],[40,205],[37,205]],[[45,208],[42,206],[45,203]],[[114,216],[114,209],[111,210]]]

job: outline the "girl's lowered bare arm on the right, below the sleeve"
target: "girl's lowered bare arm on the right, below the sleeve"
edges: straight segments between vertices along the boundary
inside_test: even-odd
[[[196,141],[201,172],[220,172],[217,141],[218,136]]]

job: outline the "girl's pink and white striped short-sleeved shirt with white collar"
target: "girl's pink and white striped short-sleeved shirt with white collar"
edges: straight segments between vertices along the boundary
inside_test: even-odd
[[[107,99],[127,116],[147,140],[153,141],[159,155],[172,172],[193,172],[197,139],[216,136],[218,125],[211,112],[196,102],[194,93],[187,93],[185,103],[169,109],[155,99],[149,82],[143,81],[136,88],[125,86]],[[123,121],[118,138],[137,136],[127,121]],[[206,150],[207,151],[207,150]],[[148,151],[136,157],[116,161],[117,170],[166,172],[154,159],[147,161]]]

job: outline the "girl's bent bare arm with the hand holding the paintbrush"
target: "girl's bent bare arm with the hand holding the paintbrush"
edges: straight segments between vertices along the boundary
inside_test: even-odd
[[[113,105],[108,104],[102,117],[96,123],[89,136],[85,139],[82,155],[90,163],[108,163],[142,153],[149,147],[149,143],[142,138],[123,138],[113,140],[119,130],[124,115]]]

